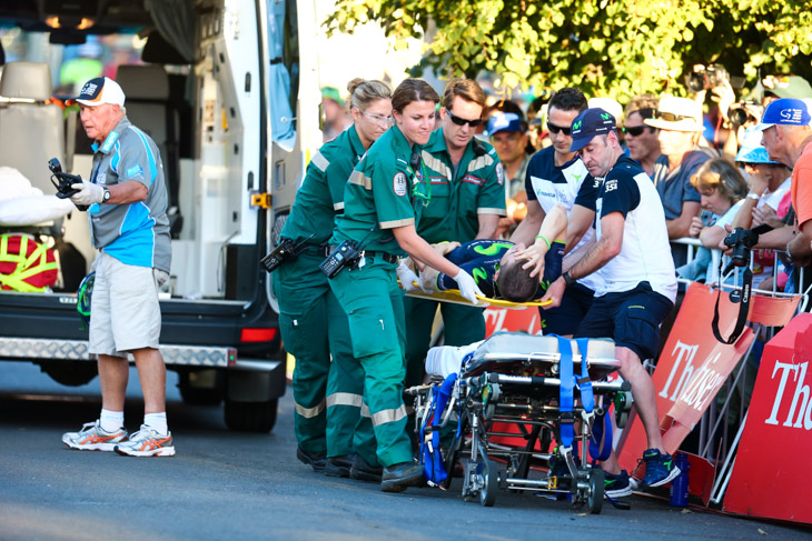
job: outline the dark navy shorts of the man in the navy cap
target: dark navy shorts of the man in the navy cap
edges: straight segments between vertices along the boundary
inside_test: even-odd
[[[660,323],[673,308],[674,303],[652,291],[648,282],[640,282],[633,290],[596,297],[575,338],[611,338],[641,360],[655,359]]]

